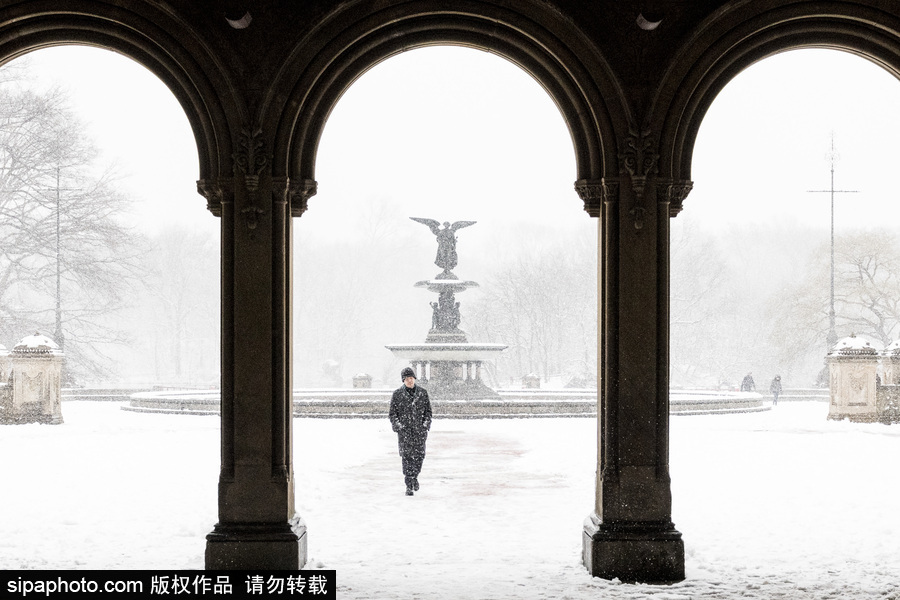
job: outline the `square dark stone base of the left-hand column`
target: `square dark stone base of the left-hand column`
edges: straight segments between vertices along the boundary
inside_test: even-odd
[[[208,571],[296,571],[306,559],[302,524],[219,524],[206,536]]]

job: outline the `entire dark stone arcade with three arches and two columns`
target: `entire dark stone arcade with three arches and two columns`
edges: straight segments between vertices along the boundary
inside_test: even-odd
[[[572,201],[597,219],[599,448],[584,564],[674,582],[684,548],[668,468],[669,220],[693,185],[700,122],[737,73],[788,49],[843,49],[900,74],[900,5],[0,0],[0,61],[59,44],[120,52],[172,90],[196,138],[198,191],[220,219],[222,466],[208,568],[306,561],[293,520],[292,218],[316,193],[317,144],[353,81],[394,54],[454,44],[540,82],[571,133]]]

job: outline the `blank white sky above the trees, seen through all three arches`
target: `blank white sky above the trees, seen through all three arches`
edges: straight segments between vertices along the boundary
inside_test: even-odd
[[[98,145],[129,175],[139,222],[216,229],[195,192],[187,120],[152,74],[92,48],[28,59],[35,73],[71,91]],[[900,83],[856,56],[801,50],[757,63],[703,122],[683,215],[715,227],[771,220],[827,227],[828,195],[807,190],[829,187],[833,132],[835,187],[859,190],[837,197],[838,229],[893,222],[898,106]],[[489,243],[491,231],[510,221],[519,230],[585,226],[558,110],[520,69],[476,50],[407,52],[364,75],[329,119],[316,179],[319,194],[297,222],[303,235],[333,235],[349,208],[371,199],[396,204],[404,218],[477,220],[465,232],[472,244]],[[538,212],[548,204],[558,208],[552,223]]]

